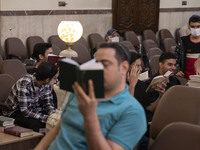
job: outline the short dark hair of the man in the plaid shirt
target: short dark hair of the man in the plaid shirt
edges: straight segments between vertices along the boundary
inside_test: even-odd
[[[36,80],[43,81],[45,79],[52,79],[58,72],[57,67],[48,61],[42,62],[35,73]]]

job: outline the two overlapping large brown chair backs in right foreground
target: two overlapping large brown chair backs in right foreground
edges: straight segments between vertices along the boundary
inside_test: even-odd
[[[173,86],[167,90],[150,125],[149,150],[199,149],[199,112],[200,88]]]

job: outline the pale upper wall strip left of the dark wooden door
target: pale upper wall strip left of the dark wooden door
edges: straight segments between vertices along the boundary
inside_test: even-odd
[[[59,1],[68,3],[58,7]],[[1,0],[1,10],[111,9],[112,0]]]

